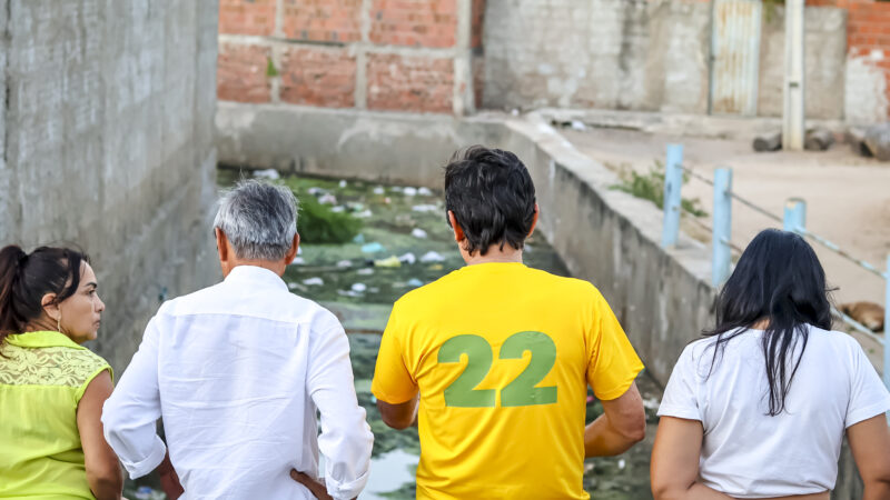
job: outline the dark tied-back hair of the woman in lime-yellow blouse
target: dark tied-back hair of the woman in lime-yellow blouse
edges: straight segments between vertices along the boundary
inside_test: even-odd
[[[82,252],[68,248],[40,247],[30,254],[10,244],[0,250],[0,347],[10,334],[43,314],[41,301],[56,293],[53,303],[71,297],[80,286]]]

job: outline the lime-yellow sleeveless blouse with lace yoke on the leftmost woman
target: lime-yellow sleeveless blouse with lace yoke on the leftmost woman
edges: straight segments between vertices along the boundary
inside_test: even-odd
[[[77,406],[111,367],[57,331],[9,336],[0,352],[0,498],[95,499]]]

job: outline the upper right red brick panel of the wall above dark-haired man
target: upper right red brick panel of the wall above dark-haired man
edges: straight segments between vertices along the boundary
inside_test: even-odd
[[[378,44],[454,47],[457,0],[374,0],[370,41]]]

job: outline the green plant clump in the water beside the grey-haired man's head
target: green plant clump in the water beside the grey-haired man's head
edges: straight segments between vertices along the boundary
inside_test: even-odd
[[[308,192],[296,192],[299,199],[297,228],[306,243],[347,243],[362,230],[362,220],[346,212],[335,212]]]

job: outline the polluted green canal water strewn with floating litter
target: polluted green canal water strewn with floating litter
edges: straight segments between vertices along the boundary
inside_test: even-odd
[[[370,380],[393,303],[407,291],[464,266],[445,219],[443,196],[415,187],[258,173],[290,187],[301,200],[297,223],[300,253],[285,272],[288,288],[334,312],[349,339],[358,402],[367,411],[375,438],[372,473],[360,499],[413,499],[421,452],[417,429],[396,431],[383,423]],[[227,188],[253,176],[220,169],[218,184]],[[325,230],[320,226],[326,221],[348,228]],[[332,242],[335,240],[338,242]],[[530,267],[568,276],[558,254],[538,234],[527,241],[523,257]],[[646,403],[646,440],[621,457],[585,461],[584,488],[594,499],[651,498],[649,456],[661,392],[645,376],[637,384]],[[587,420],[601,413],[600,403],[591,401]],[[148,477],[128,483],[128,498],[135,497],[138,486],[157,492],[156,478]]]

